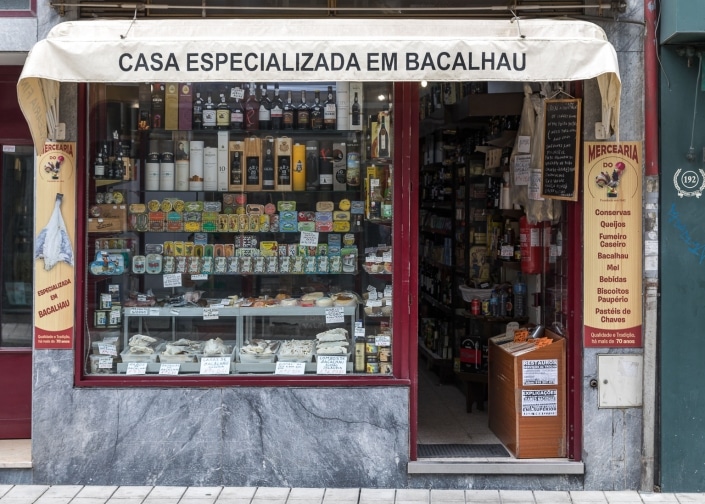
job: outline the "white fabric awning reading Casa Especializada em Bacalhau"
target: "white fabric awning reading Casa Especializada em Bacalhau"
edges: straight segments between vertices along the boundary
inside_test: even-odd
[[[18,98],[41,147],[53,135],[59,82],[594,77],[601,81],[603,102],[611,97],[616,126],[621,89],[616,52],[600,27],[576,20],[87,20],[61,23],[34,46]]]

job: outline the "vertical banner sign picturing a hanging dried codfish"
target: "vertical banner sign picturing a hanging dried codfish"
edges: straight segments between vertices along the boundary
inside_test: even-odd
[[[47,142],[37,160],[34,348],[72,348],[76,144]]]

